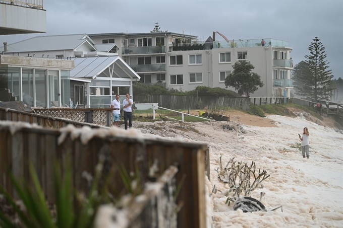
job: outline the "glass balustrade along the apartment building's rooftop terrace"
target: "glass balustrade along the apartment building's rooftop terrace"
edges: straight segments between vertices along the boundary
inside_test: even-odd
[[[273,47],[288,47],[287,41],[275,40],[275,39],[263,39],[265,41],[264,46]],[[232,48],[232,47],[260,47],[262,39],[252,40],[229,40],[226,41],[213,41],[213,48]]]

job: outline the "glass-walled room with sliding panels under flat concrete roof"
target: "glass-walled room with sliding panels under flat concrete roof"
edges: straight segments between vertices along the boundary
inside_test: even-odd
[[[0,89],[29,107],[69,106],[70,70],[2,66]]]

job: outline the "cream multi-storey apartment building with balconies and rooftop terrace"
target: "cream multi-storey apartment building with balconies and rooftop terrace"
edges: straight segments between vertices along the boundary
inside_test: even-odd
[[[252,97],[290,97],[293,68],[288,42],[264,39],[198,42],[172,32],[88,34],[95,44],[115,43],[118,54],[145,84],[190,91],[197,86],[225,88],[224,79],[240,59],[250,61],[264,86]],[[233,88],[229,88],[234,90]]]

